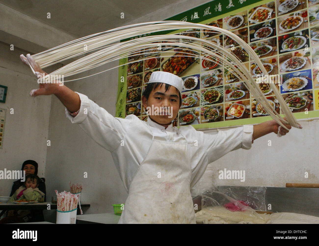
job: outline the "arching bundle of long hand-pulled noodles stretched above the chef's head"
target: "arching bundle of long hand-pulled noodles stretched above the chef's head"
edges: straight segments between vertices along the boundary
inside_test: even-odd
[[[84,57],[79,58],[78,60],[71,62],[60,69],[57,69],[56,71],[42,78],[42,80],[52,80],[54,76],[63,75],[64,77],[68,77],[87,71],[89,69],[99,67],[109,62],[136,56],[137,54],[140,54],[141,50],[144,50],[144,52],[148,51],[148,53],[155,54],[159,51],[162,51],[163,46],[172,46],[176,48],[179,47],[179,53],[181,53],[180,56],[194,57],[195,59],[200,58],[210,62],[216,61],[216,59],[218,59],[219,61],[223,62],[225,64],[225,67],[228,67],[227,69],[231,70],[234,76],[236,76],[240,81],[243,81],[244,85],[251,92],[256,101],[263,106],[264,110],[281,127],[288,130],[284,123],[289,123],[291,126],[299,128],[296,118],[293,116],[293,113],[288,108],[285,100],[280,95],[280,92],[277,89],[276,85],[271,82],[267,84],[267,86],[269,86],[269,89],[272,90],[271,94],[276,96],[276,98],[278,99],[278,102],[281,105],[282,112],[284,112],[287,120],[283,119],[279,115],[279,113],[276,112],[274,107],[270,105],[263,91],[260,89],[259,83],[256,83],[255,78],[250,74],[250,71],[246,68],[246,66],[244,66],[241,60],[232,52],[232,49],[226,49],[222,45],[218,45],[216,42],[194,37],[196,35],[187,35],[195,32],[198,33],[198,30],[176,34],[154,34],[149,36],[149,34],[152,34],[154,32],[173,32],[174,30],[180,29],[205,29],[205,33],[211,32],[214,33],[214,35],[227,35],[228,37],[236,41],[249,54],[251,60],[256,63],[256,66],[258,66],[260,73],[268,75],[267,70],[264,68],[256,52],[234,33],[215,26],[195,24],[183,21],[157,21],[118,27],[106,32],[96,33],[77,40],[73,40],[71,42],[48,49],[41,53],[34,54],[32,55],[32,57],[41,68],[45,68],[55,63],[74,58],[79,55],[83,56],[86,53],[89,53]],[[120,40],[130,39],[136,36],[139,36],[139,38],[119,42]],[[157,49],[155,49],[154,47],[157,47]],[[174,49],[171,51],[165,51],[165,53],[167,54],[169,54],[170,52],[172,53],[170,56],[176,53]],[[174,56],[176,56],[176,54]],[[149,58],[140,59],[139,61],[147,59]],[[121,64],[119,66],[123,66],[129,63],[131,62]],[[119,66],[113,67],[111,69],[117,68]],[[107,69],[105,71],[108,70],[110,69]],[[86,77],[89,76],[85,76],[82,78]],[[64,80],[64,82],[67,81]]]

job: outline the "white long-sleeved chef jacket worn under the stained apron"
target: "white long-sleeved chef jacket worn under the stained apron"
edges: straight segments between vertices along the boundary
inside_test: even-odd
[[[113,117],[87,96],[76,93],[81,100],[80,111],[73,117],[65,108],[66,117],[72,123],[77,123],[94,141],[111,152],[127,192],[137,168],[151,147],[153,134],[154,139],[161,141],[185,142],[186,139],[188,153],[185,153],[185,158],[190,159],[192,170],[190,188],[203,176],[209,163],[232,150],[251,148],[252,125],[219,131],[213,135],[204,134],[192,126],[178,129],[171,124],[165,129],[149,118],[146,122],[133,114],[126,116],[125,119]],[[152,130],[148,126],[152,127]],[[163,157],[165,158],[164,153]]]

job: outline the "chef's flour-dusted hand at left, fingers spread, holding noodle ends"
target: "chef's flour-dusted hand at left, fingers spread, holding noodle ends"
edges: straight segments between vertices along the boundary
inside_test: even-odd
[[[28,62],[30,63],[30,65],[35,71],[34,75],[37,76],[37,78],[42,78],[43,74],[48,75],[40,68],[40,66],[34,61],[30,54],[27,54],[26,57],[23,54],[21,54],[20,58],[24,64],[29,66]],[[58,80],[55,80],[54,82],[55,83],[39,83],[39,88],[31,90],[30,96],[36,97],[39,95],[56,94],[59,90],[61,90],[61,87],[63,87],[64,85],[60,86],[61,82]]]

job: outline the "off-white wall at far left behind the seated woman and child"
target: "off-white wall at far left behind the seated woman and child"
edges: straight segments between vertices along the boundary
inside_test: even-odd
[[[0,42],[0,84],[8,86],[6,101],[0,103],[0,108],[7,110],[0,170],[21,170],[22,163],[31,159],[39,164],[38,176],[44,177],[51,97],[30,97],[30,90],[38,88],[38,83],[20,60],[20,54],[26,53],[17,47],[10,50],[10,45]],[[10,195],[13,181],[0,179],[0,196]]]

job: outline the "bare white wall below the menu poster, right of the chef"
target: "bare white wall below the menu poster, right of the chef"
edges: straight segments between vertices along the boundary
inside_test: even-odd
[[[254,141],[251,149],[229,152],[210,163],[198,186],[215,185],[285,187],[286,183],[319,181],[318,120],[298,121],[302,129],[292,128],[280,138],[271,133]],[[216,134],[216,133],[211,133]],[[271,140],[271,146],[268,141]],[[245,170],[245,181],[219,179],[219,170]],[[308,178],[305,177],[308,172]],[[197,187],[198,188],[198,187]]]

